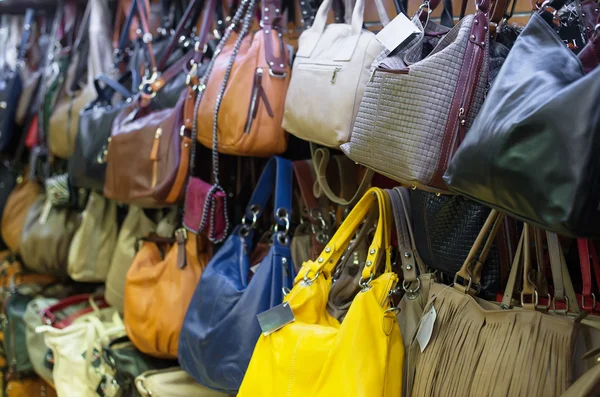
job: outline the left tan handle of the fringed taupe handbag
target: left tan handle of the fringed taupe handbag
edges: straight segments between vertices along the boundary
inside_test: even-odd
[[[498,212],[498,210],[491,210],[488,218],[486,219],[481,231],[477,235],[467,258],[463,262],[460,270],[454,276],[454,287],[459,291],[463,291],[464,293],[472,293],[475,292],[477,294],[479,292],[479,284],[481,282],[481,272],[483,270],[483,264],[487,260],[487,256],[492,248],[492,244],[496,239],[496,235],[498,234],[498,230],[500,230],[500,226],[504,221],[504,214]],[[483,244],[485,244],[479,252],[479,248]],[[477,253],[479,252],[479,258],[477,257]],[[468,280],[467,285],[463,285],[458,282],[458,278],[462,278],[463,280]],[[473,290],[471,287],[475,287]]]

